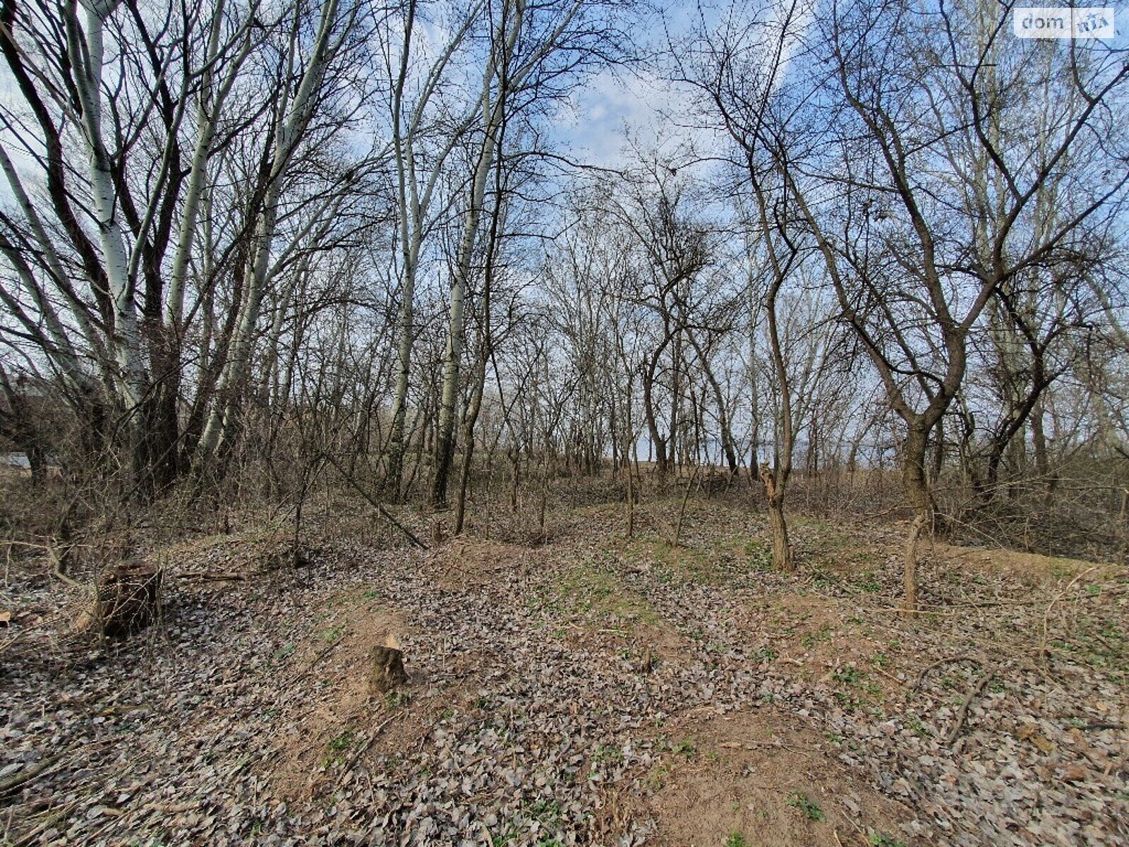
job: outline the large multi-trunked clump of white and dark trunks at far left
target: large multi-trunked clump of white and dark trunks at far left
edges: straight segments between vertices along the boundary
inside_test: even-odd
[[[358,21],[375,23],[365,5],[315,11],[310,26],[303,3],[257,0],[0,9],[18,93],[0,108],[15,198],[0,251],[33,292],[2,296],[25,328],[42,323],[37,355],[64,374],[89,442],[124,456],[128,494],[152,496],[190,462],[215,470],[265,291],[325,244],[327,221],[342,228],[345,193],[379,159],[340,157],[327,180],[301,176],[304,208],[280,203],[312,134],[340,145]],[[198,334],[204,349],[186,351]]]

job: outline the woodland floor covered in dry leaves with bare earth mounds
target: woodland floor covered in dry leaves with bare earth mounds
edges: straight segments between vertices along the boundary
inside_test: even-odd
[[[674,500],[426,552],[321,510],[298,568],[264,522],[151,540],[122,641],[9,564],[0,845],[1129,844],[1123,567],[938,544],[907,618],[898,524],[796,516],[784,577],[717,500],[679,548]]]

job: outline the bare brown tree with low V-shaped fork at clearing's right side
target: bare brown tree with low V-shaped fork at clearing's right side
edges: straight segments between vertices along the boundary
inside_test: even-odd
[[[918,603],[918,540],[934,527],[929,434],[961,387],[970,334],[1012,280],[1076,261],[1129,180],[1086,164],[1124,158],[1114,102],[1129,68],[1070,51],[1044,66],[1065,71],[1053,89],[1027,61],[1045,45],[1001,46],[1008,20],[1007,8],[978,3],[937,16],[887,3],[837,8],[821,34],[830,73],[822,120],[839,131],[838,152],[812,159],[834,199],[789,175],[843,316],[905,426],[908,609]],[[1036,138],[1032,102],[1057,110]],[[1077,204],[1035,226],[1052,185]]]

